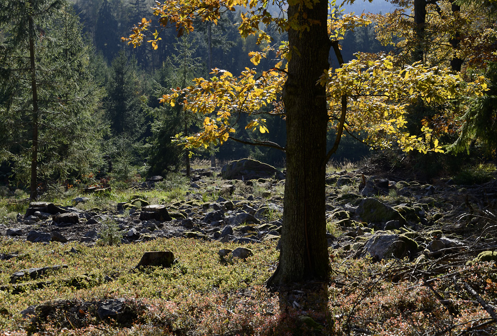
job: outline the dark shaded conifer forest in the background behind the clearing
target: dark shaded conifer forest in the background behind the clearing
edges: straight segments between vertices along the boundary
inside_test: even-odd
[[[87,106],[86,121],[75,115],[75,120],[80,120],[79,124],[75,121],[64,126],[59,125],[57,120],[45,120],[51,125],[45,130],[42,128],[42,133],[54,134],[58,129],[66,131],[65,137],[45,137],[40,142],[39,174],[45,183],[61,180],[70,183],[91,173],[125,181],[136,174],[165,175],[184,167],[183,158],[187,153],[171,139],[181,132],[194,133],[201,127],[202,118],[185,113],[179,106],[164,106],[159,103],[159,98],[171,87],[185,87],[193,78],[209,77],[209,27],[207,23],[199,22],[194,32],[181,38],[176,37],[174,29],[164,29],[160,33],[162,40],[157,50],[153,50],[150,43],[138,48],[124,43],[121,38],[130,34],[132,26],[144,17],[153,19],[153,5],[150,0],[75,0],[73,8],[66,10],[69,12],[67,15],[77,19],[70,29],[78,35],[77,43],[85,47],[85,55],[89,59],[85,68],[88,72],[85,85],[89,86],[88,92],[92,92],[94,101]],[[369,6],[366,12],[381,12],[388,11],[390,5],[375,2],[373,6],[359,2],[354,6],[348,11],[358,11],[358,6]],[[210,27],[212,67],[235,75],[246,66],[253,66],[248,53],[262,48],[256,44],[255,36],[240,38],[237,30],[239,21],[238,12],[227,12],[218,25]],[[50,27],[50,24],[47,26]],[[53,25],[54,31],[61,29],[60,26],[55,27]],[[49,36],[50,28],[46,30]],[[287,40],[285,34],[275,31],[272,32],[275,44]],[[353,52],[375,53],[385,48],[375,40],[373,24],[348,32],[342,47],[345,62],[352,59]],[[258,70],[268,69],[272,63],[271,57],[263,59]],[[331,57],[330,63],[333,67],[338,66],[337,60]],[[8,96],[8,92],[3,94],[4,98]],[[17,122],[22,123],[22,120]],[[240,120],[239,125],[244,124]],[[269,133],[261,135],[263,139],[284,146],[285,122],[274,116],[268,119],[267,125]],[[12,127],[16,127],[16,122]],[[26,134],[29,133],[28,128]],[[252,136],[243,127],[237,132],[241,138]],[[4,151],[7,148],[9,154],[5,156],[7,152],[4,152],[4,158],[9,159],[0,166],[0,180],[6,183],[29,180],[29,137],[25,136],[24,141],[22,134],[14,133],[2,134]],[[59,133],[64,134],[63,131]],[[330,144],[333,140],[334,134],[331,133]],[[368,147],[345,137],[334,160],[358,160],[368,152]],[[251,157],[279,167],[285,165],[285,155],[280,151],[233,141],[194,153],[200,158],[208,158],[211,154],[215,154],[220,161]]]

